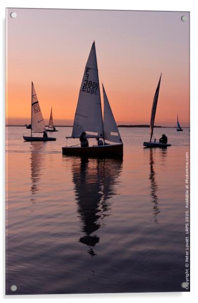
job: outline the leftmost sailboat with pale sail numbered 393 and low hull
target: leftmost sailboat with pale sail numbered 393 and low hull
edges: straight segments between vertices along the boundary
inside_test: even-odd
[[[50,137],[33,137],[33,133],[43,133],[46,131],[45,122],[41,113],[41,108],[36,96],[32,82],[32,101],[31,101],[31,137],[23,136],[25,141],[55,141],[56,138]]]

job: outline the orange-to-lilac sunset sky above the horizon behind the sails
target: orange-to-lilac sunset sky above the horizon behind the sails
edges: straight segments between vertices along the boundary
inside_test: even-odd
[[[99,79],[118,124],[149,124],[162,72],[155,124],[175,126],[178,114],[189,126],[189,18],[188,12],[7,9],[7,123],[30,123],[33,81],[45,123],[52,106],[55,124],[72,125],[95,40]]]

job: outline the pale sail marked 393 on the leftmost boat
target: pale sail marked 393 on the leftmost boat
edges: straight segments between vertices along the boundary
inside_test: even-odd
[[[42,133],[45,130],[43,115],[32,82],[32,132]]]

